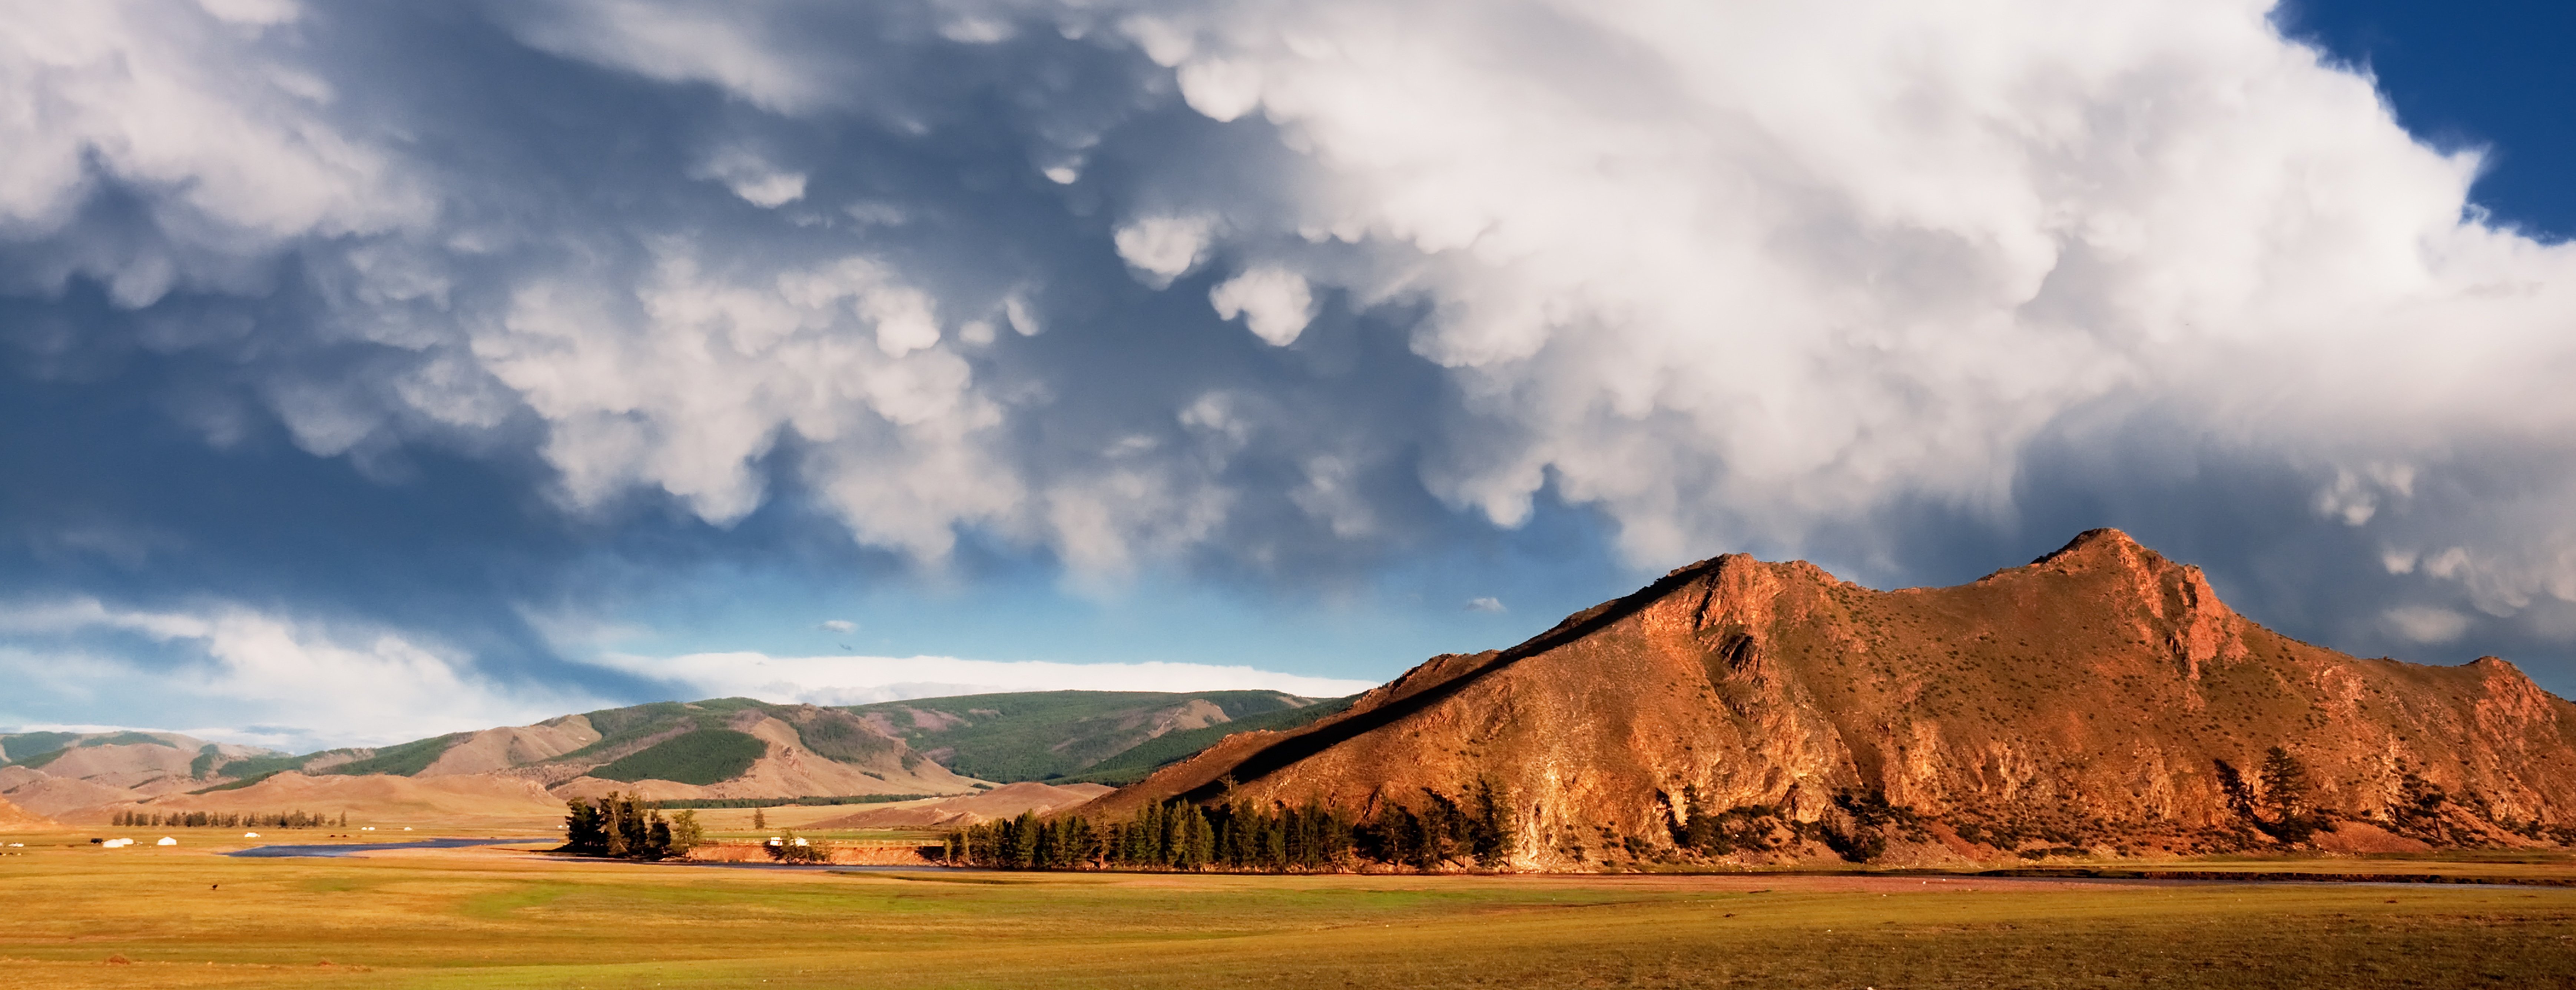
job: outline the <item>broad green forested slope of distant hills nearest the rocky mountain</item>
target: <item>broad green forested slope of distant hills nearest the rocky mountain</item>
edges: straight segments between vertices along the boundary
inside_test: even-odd
[[[987,781],[1051,781],[1090,771],[1151,740],[1154,714],[1208,701],[1226,719],[1293,712],[1311,704],[1280,691],[1015,691],[855,704],[845,712],[881,714],[914,750],[940,755],[940,766]],[[922,727],[912,712],[945,719]],[[1218,724],[1216,737],[1224,737]],[[1200,742],[1198,748],[1206,748]],[[1193,748],[1190,753],[1195,753]]]

